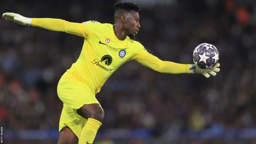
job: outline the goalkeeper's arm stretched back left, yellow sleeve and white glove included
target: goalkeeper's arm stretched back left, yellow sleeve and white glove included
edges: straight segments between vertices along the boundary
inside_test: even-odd
[[[71,23],[62,19],[55,18],[27,18],[15,13],[4,13],[3,18],[7,21],[14,21],[20,25],[31,25],[41,27],[47,30],[66,32],[69,34],[75,34],[80,37],[87,37],[84,32],[82,23]]]

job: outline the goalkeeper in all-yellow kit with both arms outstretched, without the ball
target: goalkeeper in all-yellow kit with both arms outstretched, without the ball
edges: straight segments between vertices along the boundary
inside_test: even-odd
[[[92,144],[102,125],[104,111],[95,97],[107,78],[122,64],[135,60],[160,73],[201,73],[206,78],[216,75],[219,64],[200,69],[194,64],[162,61],[151,55],[141,43],[133,40],[138,34],[140,10],[132,2],[114,5],[114,24],[86,21],[71,23],[54,18],[26,18],[4,13],[8,21],[41,27],[84,37],[77,61],[60,78],[57,94],[63,102],[57,144]]]

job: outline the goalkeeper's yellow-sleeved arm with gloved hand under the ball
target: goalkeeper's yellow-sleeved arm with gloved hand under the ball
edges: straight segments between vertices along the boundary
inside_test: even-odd
[[[209,78],[210,75],[215,76],[217,74],[216,72],[220,71],[218,68],[220,64],[216,64],[210,69],[200,69],[194,64],[178,64],[175,62],[162,61],[158,57],[155,57],[148,52],[141,53],[140,55],[141,59],[138,58],[137,62],[160,73],[201,73],[206,78]]]

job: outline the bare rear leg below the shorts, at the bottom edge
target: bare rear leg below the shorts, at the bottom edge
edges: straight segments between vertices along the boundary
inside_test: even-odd
[[[76,137],[69,127],[64,127],[59,132],[57,144],[78,144],[78,137]]]

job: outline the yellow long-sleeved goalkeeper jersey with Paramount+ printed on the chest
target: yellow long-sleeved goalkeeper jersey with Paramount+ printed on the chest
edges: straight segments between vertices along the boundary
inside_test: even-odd
[[[190,73],[189,64],[162,61],[129,37],[123,41],[117,39],[113,25],[109,23],[71,23],[61,19],[32,18],[31,25],[85,38],[80,56],[62,77],[87,84],[94,94],[100,91],[114,71],[133,59],[161,73]]]

